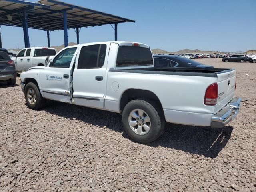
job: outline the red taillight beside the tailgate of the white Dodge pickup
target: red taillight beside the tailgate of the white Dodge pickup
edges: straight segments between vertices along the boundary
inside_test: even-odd
[[[218,84],[214,83],[208,86],[204,95],[205,105],[216,105],[218,100]]]

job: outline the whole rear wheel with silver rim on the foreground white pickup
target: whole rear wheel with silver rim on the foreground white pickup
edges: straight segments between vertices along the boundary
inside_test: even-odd
[[[165,120],[160,107],[152,101],[132,100],[123,110],[124,130],[135,141],[149,143],[163,132]]]

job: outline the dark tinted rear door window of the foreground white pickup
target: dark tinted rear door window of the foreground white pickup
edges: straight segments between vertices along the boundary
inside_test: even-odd
[[[106,56],[106,44],[89,45],[81,48],[78,69],[101,68]]]

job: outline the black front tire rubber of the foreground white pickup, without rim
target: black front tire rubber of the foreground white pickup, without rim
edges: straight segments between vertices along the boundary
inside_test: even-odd
[[[28,100],[28,90],[29,89],[34,90],[34,93],[36,95],[36,102],[34,104],[31,104]],[[38,87],[34,83],[30,82],[30,83],[26,84],[24,93],[25,93],[25,99],[26,99],[26,102],[27,102],[29,108],[31,108],[33,110],[37,110],[37,109],[45,107],[46,99],[42,97]]]

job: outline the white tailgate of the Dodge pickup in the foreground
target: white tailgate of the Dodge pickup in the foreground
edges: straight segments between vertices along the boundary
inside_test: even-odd
[[[218,100],[215,111],[226,105],[235,93],[236,70],[226,70],[217,73],[218,76]]]

